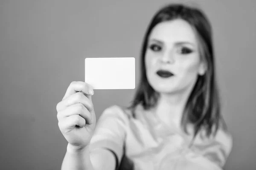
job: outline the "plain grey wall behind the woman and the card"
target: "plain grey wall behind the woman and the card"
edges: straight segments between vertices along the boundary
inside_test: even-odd
[[[67,142],[56,105],[84,81],[85,57],[135,57],[169,0],[0,1],[0,169],[57,170]],[[226,170],[256,167],[256,1],[197,0],[212,23],[223,114],[234,138]],[[97,119],[135,90],[95,90]]]

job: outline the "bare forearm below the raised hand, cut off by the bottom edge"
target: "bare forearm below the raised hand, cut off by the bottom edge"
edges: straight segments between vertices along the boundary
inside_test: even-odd
[[[83,150],[74,150],[68,145],[61,170],[95,170],[90,160],[89,146]]]

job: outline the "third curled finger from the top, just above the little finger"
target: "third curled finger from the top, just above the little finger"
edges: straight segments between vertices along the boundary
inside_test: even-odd
[[[81,116],[82,118],[85,119],[85,121],[88,125],[91,125],[93,123],[91,113],[81,103],[71,105],[64,110],[59,111],[57,114],[57,118],[58,118],[58,121],[61,121],[61,119],[68,117],[68,116],[72,116],[72,115]]]

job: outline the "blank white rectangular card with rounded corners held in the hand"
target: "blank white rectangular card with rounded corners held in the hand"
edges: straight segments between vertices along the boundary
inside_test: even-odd
[[[134,89],[135,58],[86,58],[84,75],[93,89]]]

